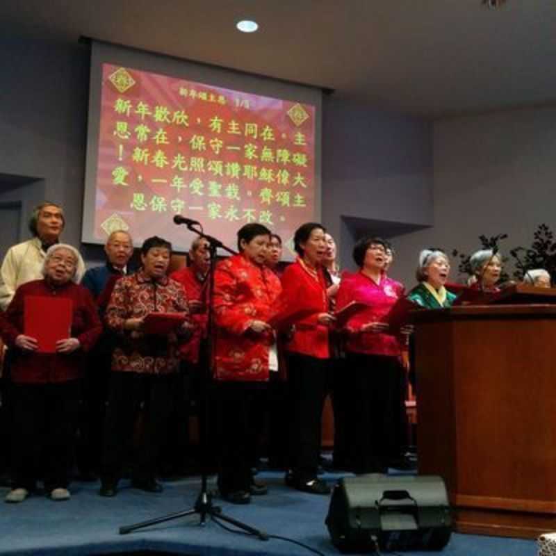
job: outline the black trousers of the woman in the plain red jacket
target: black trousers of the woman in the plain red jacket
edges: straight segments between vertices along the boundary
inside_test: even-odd
[[[317,475],[322,408],[330,384],[330,373],[329,359],[288,354],[290,459],[293,475],[302,482]]]

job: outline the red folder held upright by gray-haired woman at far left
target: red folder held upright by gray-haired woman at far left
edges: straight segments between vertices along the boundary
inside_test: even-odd
[[[70,338],[74,304],[65,297],[27,295],[23,332],[38,341],[38,352],[55,353],[56,342]]]

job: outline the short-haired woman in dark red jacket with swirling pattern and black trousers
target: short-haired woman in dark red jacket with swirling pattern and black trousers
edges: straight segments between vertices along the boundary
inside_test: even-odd
[[[141,247],[142,268],[115,283],[106,308],[106,325],[117,334],[117,347],[108,392],[101,496],[116,494],[141,402],[145,422],[131,486],[147,492],[163,490],[154,478],[156,461],[167,431],[179,343],[190,336],[190,322],[186,319],[169,334],[147,334],[144,322],[149,313],[189,314],[183,286],[166,275],[171,254],[172,244],[163,238],[146,239]]]

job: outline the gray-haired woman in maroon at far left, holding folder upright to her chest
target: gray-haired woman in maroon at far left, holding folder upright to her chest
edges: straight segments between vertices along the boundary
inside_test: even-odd
[[[43,279],[22,284],[0,322],[10,348],[13,382],[13,489],[6,502],[22,502],[39,477],[52,500],[67,500],[68,469],[74,452],[83,356],[101,334],[101,322],[81,279],[79,252],[57,243],[47,250]],[[71,326],[54,352],[39,349],[40,338],[26,334],[26,305],[33,298],[70,300]],[[51,316],[45,316],[45,326]]]

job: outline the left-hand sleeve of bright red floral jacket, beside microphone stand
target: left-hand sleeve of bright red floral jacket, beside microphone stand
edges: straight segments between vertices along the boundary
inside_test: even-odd
[[[238,281],[228,261],[218,265],[214,275],[214,315],[216,325],[240,336],[250,327],[252,317],[245,312],[245,304],[238,304]]]

